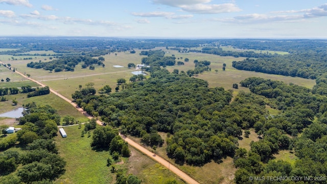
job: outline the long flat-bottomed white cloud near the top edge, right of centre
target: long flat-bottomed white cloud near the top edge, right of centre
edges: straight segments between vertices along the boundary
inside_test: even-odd
[[[221,5],[182,5],[180,8],[184,11],[199,13],[199,14],[216,14],[241,11],[235,4],[221,4]]]

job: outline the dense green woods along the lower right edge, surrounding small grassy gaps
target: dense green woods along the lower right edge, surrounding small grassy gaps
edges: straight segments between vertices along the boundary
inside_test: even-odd
[[[250,176],[306,176],[315,178],[309,183],[324,183],[327,175],[327,97],[313,94],[305,87],[262,78],[248,78],[241,85],[269,99],[269,105],[281,109],[282,113],[253,125],[256,132],[263,135],[263,140],[251,143],[249,152],[242,148],[236,150],[234,164],[240,168],[235,174],[236,182],[253,183],[248,179]],[[285,133],[294,138],[290,139]],[[298,159],[293,166],[287,160],[271,159],[280,149],[294,150]]]

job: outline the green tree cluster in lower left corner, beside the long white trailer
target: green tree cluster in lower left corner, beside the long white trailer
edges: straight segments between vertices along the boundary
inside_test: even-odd
[[[31,103],[25,108],[24,117],[19,120],[24,124],[22,129],[1,142],[0,182],[52,183],[65,172],[66,165],[53,140],[60,116],[48,105]],[[7,150],[13,146],[24,147],[24,151]]]

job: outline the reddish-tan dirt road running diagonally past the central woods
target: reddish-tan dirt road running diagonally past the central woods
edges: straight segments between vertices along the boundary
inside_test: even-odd
[[[0,63],[2,63],[0,61]],[[17,70],[15,71],[17,74],[21,75],[22,77],[25,77],[37,84],[39,84],[40,86],[44,87],[46,86],[45,84],[43,84],[42,82],[36,81],[32,78],[28,78],[27,76],[25,76],[24,74],[18,72]],[[58,93],[58,91],[50,88],[51,93],[57,95],[58,97],[62,98],[63,100],[67,101],[68,103],[72,104],[78,111],[80,111],[81,113],[83,113],[88,119],[92,119],[94,117],[89,116],[82,108],[77,107],[77,104],[72,102],[71,100],[67,99],[66,97],[60,95]],[[97,124],[102,126],[102,122],[100,120],[97,120]],[[165,160],[164,158],[155,155],[154,153],[152,153],[151,151],[147,150],[146,148],[144,148],[143,146],[135,143],[134,141],[132,141],[131,139],[129,139],[128,137],[122,135],[120,133],[120,136],[123,137],[123,139],[132,147],[138,149],[139,151],[141,151],[142,153],[148,155],[149,157],[151,157],[152,159],[156,160],[158,163],[160,163],[162,166],[165,166],[166,168],[168,168],[170,171],[172,171],[173,173],[175,173],[177,176],[179,176],[180,178],[182,178],[185,182],[190,183],[190,184],[199,184],[199,182],[197,182],[195,179],[193,179],[192,177],[190,177],[189,175],[187,175],[186,173],[184,173],[183,171],[181,171],[180,169],[178,169],[177,167],[175,167],[174,165],[170,164],[167,160]]]

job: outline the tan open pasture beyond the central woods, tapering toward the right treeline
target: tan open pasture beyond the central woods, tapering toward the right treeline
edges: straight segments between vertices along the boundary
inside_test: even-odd
[[[247,88],[241,87],[239,85],[239,89],[232,88],[233,83],[238,83],[246,78],[249,77],[261,77],[265,79],[271,79],[271,80],[278,80],[283,81],[285,83],[294,83],[300,86],[305,86],[308,88],[312,88],[315,84],[315,80],[311,79],[303,79],[299,77],[290,77],[290,76],[280,76],[280,75],[270,75],[270,74],[264,74],[259,72],[250,72],[250,71],[241,71],[237,70],[236,68],[232,67],[232,61],[242,61],[245,58],[239,57],[231,57],[231,56],[218,56],[213,54],[203,54],[203,53],[179,53],[174,50],[169,50],[169,53],[166,53],[166,55],[172,55],[174,54],[176,58],[182,58],[180,60],[184,61],[184,58],[189,58],[189,62],[184,62],[184,65],[175,65],[175,66],[167,66],[167,69],[172,72],[174,69],[178,69],[180,71],[188,71],[188,70],[194,70],[195,64],[193,61],[195,59],[202,61],[207,60],[211,61],[211,64],[209,67],[211,67],[211,71],[204,72],[203,74],[199,74],[199,76],[194,76],[203,80],[208,81],[210,87],[217,87],[222,86],[225,89],[233,89],[236,91],[239,90],[245,90],[247,91]],[[177,60],[177,59],[176,59]],[[177,60],[178,61],[178,60]],[[223,63],[226,64],[226,70],[223,71]],[[215,70],[218,70],[216,73]]]

